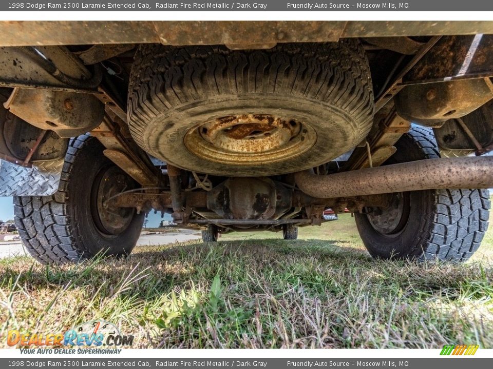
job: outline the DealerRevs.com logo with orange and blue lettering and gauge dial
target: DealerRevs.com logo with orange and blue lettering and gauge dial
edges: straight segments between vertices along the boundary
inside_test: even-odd
[[[131,346],[134,336],[122,335],[115,324],[97,319],[75,326],[65,333],[21,333],[10,330],[7,333],[9,346],[84,346],[122,347]]]

